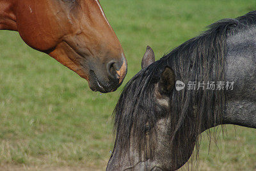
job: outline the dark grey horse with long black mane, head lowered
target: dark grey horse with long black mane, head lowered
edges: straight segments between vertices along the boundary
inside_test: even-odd
[[[255,82],[256,11],[212,24],[159,61],[148,47],[114,111],[107,170],[177,170],[203,131],[256,128]]]

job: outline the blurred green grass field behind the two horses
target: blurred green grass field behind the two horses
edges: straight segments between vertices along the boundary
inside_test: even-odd
[[[104,170],[113,148],[111,114],[150,45],[157,59],[205,26],[256,10],[254,0],[101,0],[124,48],[128,73],[110,94],[51,57],[0,31],[0,170]],[[227,126],[217,145],[202,136],[195,170],[256,170],[256,130]],[[185,166],[181,170],[188,170]]]

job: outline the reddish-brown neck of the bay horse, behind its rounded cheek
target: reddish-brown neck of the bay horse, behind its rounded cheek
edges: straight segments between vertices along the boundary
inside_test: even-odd
[[[13,2],[12,0],[0,0],[0,30],[17,31]]]

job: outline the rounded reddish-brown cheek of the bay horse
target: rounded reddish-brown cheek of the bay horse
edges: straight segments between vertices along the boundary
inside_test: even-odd
[[[16,8],[16,13],[19,13],[17,29],[20,37],[29,47],[46,52],[56,47],[59,38],[63,35],[58,21],[49,15],[44,6],[40,8],[42,9],[38,9],[33,3],[29,6],[26,3],[19,3]]]

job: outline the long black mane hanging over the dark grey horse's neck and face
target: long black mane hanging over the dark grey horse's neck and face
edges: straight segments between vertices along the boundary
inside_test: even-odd
[[[170,117],[170,126],[173,130],[170,142],[173,142],[177,149],[179,144],[187,143],[184,142],[186,137],[196,137],[196,144],[199,144],[197,135],[204,127],[221,123],[220,116],[225,112],[227,101],[225,90],[173,90],[169,97],[170,109],[163,115],[155,111],[154,86],[159,81],[165,66],[170,66],[175,72],[175,80],[181,80],[186,85],[189,81],[225,81],[228,36],[249,29],[255,24],[256,11],[236,19],[215,22],[200,36],[174,48],[159,61],[137,73],[125,85],[113,112],[116,141],[120,145],[121,152],[130,149],[131,138],[137,150],[146,149],[145,126],[154,129],[157,120],[166,115]],[[154,144],[148,145],[154,146]]]

